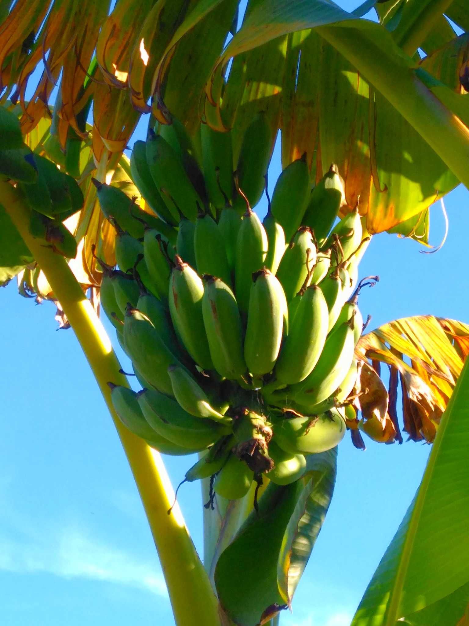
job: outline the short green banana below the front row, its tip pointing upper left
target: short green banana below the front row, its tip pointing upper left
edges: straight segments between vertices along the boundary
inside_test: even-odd
[[[197,418],[214,419],[221,424],[231,424],[231,418],[225,418],[210,406],[207,394],[184,367],[171,365],[168,367],[168,374],[173,386],[174,398],[184,411]]]

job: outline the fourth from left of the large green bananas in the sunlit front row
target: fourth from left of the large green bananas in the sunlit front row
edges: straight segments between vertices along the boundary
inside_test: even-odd
[[[328,333],[329,311],[323,292],[311,285],[301,296],[290,332],[275,366],[276,379],[295,384],[303,381],[318,362]]]

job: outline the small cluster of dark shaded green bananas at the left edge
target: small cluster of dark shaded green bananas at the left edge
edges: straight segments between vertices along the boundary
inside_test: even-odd
[[[45,245],[72,259],[77,244],[64,220],[83,207],[83,193],[69,174],[32,152],[23,141],[19,120],[0,106],[0,180],[12,180],[31,209],[29,231]]]

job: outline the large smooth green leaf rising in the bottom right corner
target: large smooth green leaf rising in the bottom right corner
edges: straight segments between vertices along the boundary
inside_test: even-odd
[[[466,361],[441,419],[420,488],[351,626],[395,626],[400,618],[433,605],[469,583],[468,447]]]

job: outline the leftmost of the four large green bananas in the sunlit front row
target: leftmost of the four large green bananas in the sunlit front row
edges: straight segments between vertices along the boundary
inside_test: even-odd
[[[198,366],[213,369],[202,313],[202,280],[181,257],[176,255],[174,260],[169,280],[169,312],[174,330]]]

